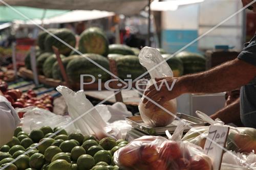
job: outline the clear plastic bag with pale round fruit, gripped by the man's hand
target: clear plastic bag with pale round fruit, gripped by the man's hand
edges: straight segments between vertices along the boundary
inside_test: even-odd
[[[163,77],[173,77],[173,71],[170,69],[169,65],[166,63],[162,55],[158,50],[152,47],[143,47],[139,54],[140,64],[148,71],[150,71],[151,80],[148,81],[146,89],[150,87],[153,83],[152,79],[163,78]],[[157,64],[161,63],[159,66],[151,70]],[[158,111],[153,111],[150,109],[145,109],[145,105],[142,103],[145,96],[139,103],[139,111],[141,118],[144,123],[152,127],[164,127],[173,122],[175,117],[162,109]],[[163,104],[163,107],[170,111],[172,114],[176,115],[177,112],[177,102],[176,99],[167,101]]]

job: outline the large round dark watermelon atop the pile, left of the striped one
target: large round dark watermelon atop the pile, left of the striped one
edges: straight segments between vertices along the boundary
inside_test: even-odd
[[[58,29],[53,32],[55,36],[60,38],[61,40],[68,43],[70,46],[75,47],[76,45],[76,37],[74,33],[72,33],[69,29]],[[51,36],[50,34],[45,38],[45,50],[47,52],[53,52],[52,46],[56,46],[59,49],[59,53],[63,55],[69,55],[72,49],[67,45],[63,44],[55,37]]]

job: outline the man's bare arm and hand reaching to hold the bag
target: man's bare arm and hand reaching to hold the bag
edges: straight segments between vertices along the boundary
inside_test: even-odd
[[[255,76],[256,66],[240,59],[234,59],[210,70],[177,78],[171,91],[166,85],[163,85],[160,91],[152,85],[149,90],[145,91],[145,95],[162,105],[183,93],[217,93],[236,89],[249,83]],[[167,81],[171,86],[174,79],[176,78],[156,79],[156,84],[159,87],[162,81]],[[146,103],[146,108],[153,106],[153,103],[146,98],[143,103]]]

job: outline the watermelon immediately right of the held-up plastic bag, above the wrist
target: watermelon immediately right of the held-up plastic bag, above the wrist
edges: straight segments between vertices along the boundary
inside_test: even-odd
[[[170,57],[170,54],[162,54],[162,56],[166,60],[170,68],[173,70],[174,77],[180,77],[183,75],[184,68],[181,59],[173,56],[167,60],[167,58]]]

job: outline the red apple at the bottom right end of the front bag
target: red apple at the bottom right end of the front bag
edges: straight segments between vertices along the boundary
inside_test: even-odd
[[[209,161],[209,159],[208,159]],[[211,164],[208,163],[208,161],[203,157],[199,155],[195,155],[192,157],[190,163],[189,163],[189,169],[191,170],[211,170]]]

